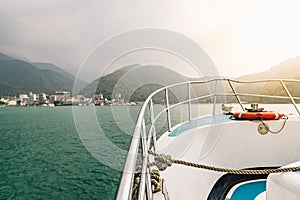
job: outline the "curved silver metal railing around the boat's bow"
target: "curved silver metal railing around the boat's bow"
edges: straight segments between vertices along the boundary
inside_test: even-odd
[[[214,91],[207,95],[201,95],[201,96],[195,96],[192,98],[192,86],[195,84],[208,84],[208,83],[214,83]],[[218,84],[222,84],[224,86],[225,92],[219,92],[217,91]],[[227,86],[225,86],[225,84]],[[252,83],[280,83],[283,91],[285,91],[286,95],[264,95],[264,94],[249,94],[249,93],[239,93],[236,90],[236,87],[234,84],[252,84]],[[294,97],[292,96],[291,92],[289,91],[286,83],[300,83],[300,80],[292,80],[292,79],[268,79],[268,80],[257,80],[257,81],[238,81],[238,80],[232,80],[232,79],[226,79],[226,78],[217,78],[217,79],[210,79],[205,81],[190,81],[190,82],[184,82],[184,83],[178,83],[173,84],[167,87],[160,88],[153,92],[144,102],[140,112],[139,116],[136,122],[136,127],[134,129],[134,133],[131,139],[130,147],[128,150],[128,155],[126,158],[126,162],[124,165],[123,175],[121,177],[121,181],[119,184],[119,190],[117,194],[118,200],[127,200],[132,199],[132,192],[133,192],[133,181],[134,181],[134,175],[136,172],[136,163],[137,158],[139,155],[139,148],[141,149],[141,173],[140,173],[140,181],[139,181],[139,192],[138,192],[138,199],[144,200],[152,199],[152,189],[151,189],[151,180],[150,180],[150,169],[148,168],[147,164],[149,161],[148,157],[148,150],[152,149],[153,151],[156,150],[156,127],[155,123],[159,119],[160,116],[163,114],[166,114],[166,120],[167,120],[167,130],[171,131],[172,127],[174,127],[176,124],[171,124],[171,112],[170,109],[187,104],[188,105],[188,120],[192,120],[192,102],[199,101],[201,99],[205,98],[212,98],[213,99],[213,113],[215,114],[216,110],[216,103],[217,103],[217,97],[219,96],[225,96],[225,97],[233,97],[236,102],[241,106],[242,110],[245,110],[244,104],[241,100],[241,97],[257,97],[257,98],[276,98],[276,99],[288,99],[291,104],[294,106],[296,112],[300,116],[300,111],[296,105],[295,100],[300,100],[300,97]],[[178,103],[170,104],[169,99],[169,92],[176,87],[179,86],[185,86],[187,87],[187,99],[180,101]],[[165,108],[162,109],[158,114],[154,114],[153,109],[153,97],[160,93],[164,92],[164,102],[165,102]],[[225,103],[225,102],[224,102]],[[147,109],[149,109],[149,112],[146,112]],[[145,115],[146,113],[150,114],[150,128],[147,131],[146,125],[145,125]],[[199,116],[198,116],[199,117]],[[152,142],[152,146],[151,146]],[[141,145],[141,146],[140,146]]]

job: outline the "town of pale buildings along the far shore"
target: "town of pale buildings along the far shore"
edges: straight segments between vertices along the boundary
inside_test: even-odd
[[[143,102],[125,102],[118,95],[118,99],[107,99],[101,93],[95,94],[93,98],[88,98],[83,95],[72,96],[68,91],[56,91],[55,94],[20,94],[16,96],[0,97],[0,106],[104,106],[104,105],[136,105]]]

